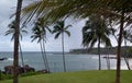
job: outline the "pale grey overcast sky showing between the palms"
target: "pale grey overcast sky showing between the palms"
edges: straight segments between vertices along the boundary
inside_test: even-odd
[[[23,3],[25,4],[25,3]],[[0,0],[0,51],[13,51],[13,42],[11,42],[11,35],[4,36],[4,32],[8,28],[8,24],[12,21],[10,19],[11,14],[15,12],[16,0]],[[73,21],[67,20],[66,25],[72,24],[69,27],[70,37],[65,35],[65,50],[82,48],[81,46],[81,27],[85,25],[86,20]],[[32,27],[28,27],[32,28]],[[30,32],[30,31],[29,31]],[[31,43],[31,34],[24,34],[21,40],[21,46],[23,51],[40,51],[40,46],[36,42]],[[112,44],[116,46],[114,39]],[[46,40],[47,51],[62,51],[61,37],[54,39],[54,35],[47,35]]]

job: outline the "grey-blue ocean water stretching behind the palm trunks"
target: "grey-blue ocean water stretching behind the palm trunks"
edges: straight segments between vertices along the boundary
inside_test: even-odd
[[[63,72],[63,56],[62,54],[48,52],[47,61],[51,72]],[[105,56],[105,55],[103,55]],[[101,68],[107,69],[107,61],[101,56]],[[111,55],[114,56],[114,55]],[[12,52],[0,52],[0,58],[8,58],[4,61],[0,61],[0,70],[4,70],[6,66],[13,64],[13,54]],[[44,63],[42,60],[41,52],[23,52],[24,64],[29,64],[35,70],[43,70]],[[66,70],[67,71],[80,71],[80,70],[98,70],[98,56],[97,55],[73,55],[65,54]],[[121,59],[121,68],[127,69],[125,62]],[[116,59],[110,60],[111,69],[116,69]],[[130,60],[132,63],[132,60]],[[19,57],[19,64],[22,66],[21,57]]]

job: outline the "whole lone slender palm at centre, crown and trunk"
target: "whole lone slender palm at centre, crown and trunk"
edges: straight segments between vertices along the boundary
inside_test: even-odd
[[[65,26],[65,21],[58,21],[53,29],[53,34],[55,34],[55,39],[58,38],[59,35],[62,35],[62,49],[63,49],[63,64],[64,64],[64,72],[66,72],[66,62],[65,62],[65,50],[64,50],[64,33],[70,36],[70,33],[67,31],[68,27],[72,25]]]

